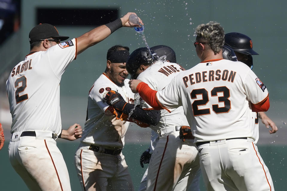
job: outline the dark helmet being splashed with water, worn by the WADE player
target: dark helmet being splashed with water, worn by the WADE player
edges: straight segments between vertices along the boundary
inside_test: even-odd
[[[146,47],[141,47],[129,55],[126,61],[126,70],[131,75],[131,79],[136,79],[136,72],[141,65],[148,66],[158,60],[158,55],[153,50],[150,51],[151,54]]]

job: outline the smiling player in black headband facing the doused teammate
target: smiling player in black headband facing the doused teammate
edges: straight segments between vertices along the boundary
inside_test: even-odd
[[[75,155],[83,190],[134,190],[122,154],[129,122],[121,120],[120,114],[102,101],[108,91],[116,90],[127,103],[134,103],[134,93],[126,79],[128,57],[129,47],[111,47],[106,70],[89,91],[86,123]]]

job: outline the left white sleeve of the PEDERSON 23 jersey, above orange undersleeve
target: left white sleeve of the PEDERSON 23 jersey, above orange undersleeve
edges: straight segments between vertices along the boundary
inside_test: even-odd
[[[158,104],[169,112],[169,109],[175,109],[182,105],[180,99],[180,85],[177,76],[167,87],[156,93]]]

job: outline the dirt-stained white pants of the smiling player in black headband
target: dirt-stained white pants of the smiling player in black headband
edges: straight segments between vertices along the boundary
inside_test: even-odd
[[[132,178],[122,153],[110,155],[81,146],[75,155],[77,175],[82,190],[133,191]]]

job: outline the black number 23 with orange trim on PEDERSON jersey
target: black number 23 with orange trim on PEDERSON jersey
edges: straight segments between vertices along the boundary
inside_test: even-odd
[[[224,107],[219,107],[218,104],[214,104],[214,105],[212,105],[212,110],[215,113],[228,113],[230,110],[230,100],[228,99],[230,97],[229,89],[226,86],[214,87],[211,90],[211,96],[212,97],[217,96],[217,93],[219,93],[219,92],[222,92],[223,96],[218,97],[218,102],[223,102]],[[193,115],[198,116],[198,115],[210,114],[209,108],[201,109],[201,110],[198,109],[198,106],[206,105],[207,102],[209,101],[207,90],[205,90],[204,88],[196,89],[196,90],[192,90],[192,92],[190,93],[191,99],[196,99],[197,95],[202,95],[202,99],[193,101],[193,103],[192,103]]]

